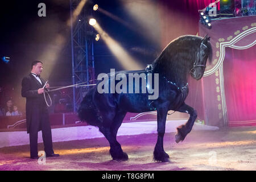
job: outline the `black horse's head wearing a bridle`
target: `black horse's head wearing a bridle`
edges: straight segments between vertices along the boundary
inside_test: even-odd
[[[208,43],[210,37],[206,35],[201,41],[199,49],[196,51],[196,59],[191,68],[191,76],[196,80],[200,80],[203,75],[207,64],[207,59],[211,60],[212,58],[212,48],[210,43]]]

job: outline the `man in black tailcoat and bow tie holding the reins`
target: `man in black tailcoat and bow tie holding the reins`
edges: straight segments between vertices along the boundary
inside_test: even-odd
[[[27,133],[30,134],[30,158],[38,159],[38,131],[41,130],[46,157],[59,156],[54,154],[52,149],[49,114],[43,96],[43,86],[46,82],[40,78],[43,63],[34,61],[31,69],[31,73],[22,80],[22,97],[26,97]],[[45,88],[48,89],[49,84],[46,84]]]

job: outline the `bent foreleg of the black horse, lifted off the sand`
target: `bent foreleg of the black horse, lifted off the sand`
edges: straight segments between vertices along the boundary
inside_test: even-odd
[[[197,118],[197,112],[195,109],[193,109],[191,106],[188,106],[187,104],[183,104],[177,109],[177,111],[181,113],[188,113],[189,119],[185,125],[181,125],[177,127],[177,133],[175,135],[175,141],[176,143],[179,143],[180,141],[183,141],[187,134],[192,130],[192,127],[194,125],[194,122]]]

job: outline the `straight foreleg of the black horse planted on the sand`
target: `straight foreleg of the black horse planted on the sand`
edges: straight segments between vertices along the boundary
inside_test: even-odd
[[[160,106],[158,108],[158,141],[155,145],[154,160],[159,162],[169,162],[169,155],[163,148],[163,137],[166,131],[166,116],[168,113],[168,104]]]

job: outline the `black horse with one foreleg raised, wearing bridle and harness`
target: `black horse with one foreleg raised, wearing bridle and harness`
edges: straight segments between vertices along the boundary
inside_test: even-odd
[[[191,75],[199,80],[204,75],[207,59],[211,60],[212,48],[210,38],[205,36],[186,35],[173,40],[147,71],[121,71],[117,73],[144,72],[159,76],[159,97],[149,100],[149,93],[98,93],[97,86],[90,89],[79,108],[79,117],[90,125],[97,126],[110,144],[110,154],[113,160],[127,160],[117,142],[117,131],[127,112],[142,113],[157,111],[158,140],[154,150],[154,159],[159,162],[169,161],[169,155],[163,148],[166,117],[169,110],[188,113],[187,123],[177,127],[176,143],[184,140],[192,130],[197,112],[185,104],[188,95],[187,78]],[[116,73],[116,74],[117,74]],[[108,81],[110,81],[109,78]],[[115,80],[115,82],[117,82]],[[99,82],[97,83],[97,85]],[[133,89],[142,85],[133,84]],[[128,90],[129,88],[127,88]]]

